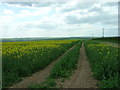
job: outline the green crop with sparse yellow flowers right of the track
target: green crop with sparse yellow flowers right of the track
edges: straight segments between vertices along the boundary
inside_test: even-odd
[[[91,40],[87,41],[85,46],[88,60],[93,71],[93,76],[100,81],[99,87],[119,88],[119,48]]]

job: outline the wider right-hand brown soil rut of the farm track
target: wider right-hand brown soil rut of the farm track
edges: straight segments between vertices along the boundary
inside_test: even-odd
[[[97,88],[97,80],[92,77],[89,62],[85,53],[84,43],[80,48],[77,70],[63,83],[63,88]]]

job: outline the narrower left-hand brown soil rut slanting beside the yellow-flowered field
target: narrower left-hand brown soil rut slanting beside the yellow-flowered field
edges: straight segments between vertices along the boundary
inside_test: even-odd
[[[54,66],[54,64],[56,62],[58,62],[60,60],[60,58],[63,57],[66,53],[68,53],[71,49],[73,49],[73,47],[70,48],[68,51],[66,51],[64,54],[62,54],[57,60],[53,61],[45,69],[40,70],[40,71],[34,73],[30,77],[24,78],[22,81],[20,81],[19,83],[13,85],[10,88],[27,88],[31,84],[36,84],[36,83],[42,83],[42,82],[44,82],[46,80],[47,76],[50,74],[50,71],[51,71],[52,67]]]

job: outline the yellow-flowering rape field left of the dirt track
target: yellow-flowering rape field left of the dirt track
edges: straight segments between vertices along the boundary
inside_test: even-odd
[[[48,40],[2,43],[2,85],[8,87],[42,70],[78,40]]]

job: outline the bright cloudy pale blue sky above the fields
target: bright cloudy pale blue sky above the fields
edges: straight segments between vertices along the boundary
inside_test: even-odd
[[[1,2],[0,38],[118,36],[118,2]]]

